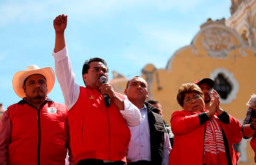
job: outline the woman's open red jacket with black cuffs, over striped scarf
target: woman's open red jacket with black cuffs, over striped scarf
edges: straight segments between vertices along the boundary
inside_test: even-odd
[[[241,141],[241,124],[229,115],[230,122],[220,123],[227,137],[232,165],[236,165],[238,156],[233,149],[234,143]],[[175,111],[171,117],[174,145],[169,154],[169,165],[202,165],[204,155],[205,123],[200,125],[198,114],[189,111]]]

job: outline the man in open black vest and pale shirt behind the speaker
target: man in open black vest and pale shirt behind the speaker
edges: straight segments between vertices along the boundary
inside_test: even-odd
[[[126,85],[125,95],[140,109],[140,125],[129,127],[131,141],[127,151],[128,165],[168,165],[171,144],[158,109],[145,102],[148,84],[140,76],[131,78]]]

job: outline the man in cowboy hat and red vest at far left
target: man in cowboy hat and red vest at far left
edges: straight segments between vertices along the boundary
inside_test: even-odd
[[[23,99],[9,106],[0,121],[1,165],[65,164],[67,108],[47,97],[54,83],[51,67],[30,65],[14,75],[13,89]]]

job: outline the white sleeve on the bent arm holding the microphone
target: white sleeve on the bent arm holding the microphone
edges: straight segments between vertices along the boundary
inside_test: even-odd
[[[140,124],[141,122],[141,114],[139,108],[135,106],[133,103],[131,103],[127,96],[125,96],[124,105],[125,109],[124,111],[120,111],[122,116],[125,118],[125,121],[129,127],[135,127]]]

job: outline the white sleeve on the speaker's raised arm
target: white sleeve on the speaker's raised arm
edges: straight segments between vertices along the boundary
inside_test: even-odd
[[[55,74],[61,86],[67,109],[70,110],[79,97],[80,86],[75,82],[75,74],[68,57],[67,46],[57,53],[53,51],[52,56],[55,58]]]

